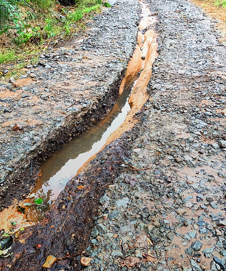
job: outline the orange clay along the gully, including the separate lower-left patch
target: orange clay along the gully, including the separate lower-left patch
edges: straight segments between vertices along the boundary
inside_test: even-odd
[[[141,2],[141,4],[143,6],[142,11],[144,12],[143,14],[144,16],[143,16],[143,20],[141,20],[141,24],[139,25],[140,30],[142,30],[143,28],[146,28],[147,26],[155,22],[155,19],[152,19],[147,14],[147,13],[150,14],[149,8],[146,7],[144,3]],[[128,63],[125,77],[122,80],[121,86],[119,88],[119,92],[122,93],[125,83],[128,80],[130,80],[133,76],[136,76],[137,73],[142,70],[137,80],[137,83],[134,86],[129,98],[129,104],[130,104],[131,109],[128,112],[124,123],[122,123],[121,126],[119,126],[118,129],[116,129],[108,137],[107,142],[102,147],[102,149],[105,148],[105,146],[111,143],[114,139],[119,138],[123,132],[131,129],[134,126],[134,124],[137,123],[137,120],[134,120],[133,117],[135,113],[141,109],[141,107],[144,105],[144,103],[148,99],[146,88],[150,80],[150,77],[152,75],[152,64],[158,55],[156,51],[158,47],[158,43],[157,43],[157,35],[155,31],[148,30],[146,31],[144,35],[139,31],[138,37],[137,37],[137,43],[138,45],[136,46],[132,59]],[[145,57],[144,60],[142,60],[142,56]],[[94,157],[96,157],[96,154],[86,161],[86,163],[78,170],[77,174]],[[18,223],[18,226],[20,225],[22,227],[31,226],[34,224],[31,221],[27,222],[26,215],[19,213],[15,205],[11,205],[9,208],[6,208],[0,213],[0,221],[1,221],[0,229],[5,229],[5,231],[8,232],[9,229],[12,227],[10,224],[11,220],[16,220]]]

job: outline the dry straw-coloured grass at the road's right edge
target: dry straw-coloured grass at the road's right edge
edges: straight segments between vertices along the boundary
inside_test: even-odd
[[[191,0],[191,2],[203,8],[212,18],[219,20],[216,23],[222,34],[219,42],[226,42],[226,0]]]

